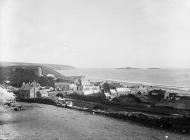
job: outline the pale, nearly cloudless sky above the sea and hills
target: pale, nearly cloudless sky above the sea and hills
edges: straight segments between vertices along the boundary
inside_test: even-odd
[[[190,68],[189,0],[0,0],[0,61]]]

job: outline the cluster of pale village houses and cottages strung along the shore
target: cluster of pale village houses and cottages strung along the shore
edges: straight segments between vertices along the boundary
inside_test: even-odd
[[[114,85],[114,86],[113,86]],[[152,90],[150,87],[141,86],[128,86],[121,83],[113,84],[110,82],[92,82],[84,77],[75,77],[72,81],[57,81],[54,87],[41,87],[35,81],[32,83],[23,84],[19,89],[17,98],[37,98],[37,97],[48,97],[50,91],[63,91],[66,93],[77,93],[82,95],[90,95],[96,93],[104,93],[108,99],[112,99],[116,96],[137,94],[146,95]],[[152,95],[157,93],[152,93]],[[169,94],[165,93],[164,98],[167,98]]]

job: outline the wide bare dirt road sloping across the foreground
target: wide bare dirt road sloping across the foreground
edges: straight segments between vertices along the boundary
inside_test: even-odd
[[[147,140],[190,139],[135,123],[51,105],[27,104],[22,112],[1,113],[0,139]]]

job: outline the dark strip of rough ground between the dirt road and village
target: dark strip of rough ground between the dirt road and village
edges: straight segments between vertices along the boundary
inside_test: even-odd
[[[141,106],[141,104],[124,106],[114,102],[97,100],[97,98],[83,97],[80,95],[65,96],[65,100],[72,101],[72,106],[64,106],[71,109],[97,113],[125,120],[132,120],[143,125],[159,127],[161,129],[168,129],[182,133],[190,132],[190,116],[187,112],[184,113],[181,110],[163,107],[147,107],[146,105]],[[20,101],[50,104],[55,106],[59,103],[55,97],[24,99]],[[64,104],[64,101],[61,103]]]

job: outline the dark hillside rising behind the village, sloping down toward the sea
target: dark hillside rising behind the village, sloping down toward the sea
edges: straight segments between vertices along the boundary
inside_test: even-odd
[[[41,79],[39,68],[41,68],[43,76],[46,76],[47,74],[53,74],[56,78],[68,79],[61,73],[57,72],[56,70],[46,66],[33,65],[33,64],[27,64],[27,65],[14,64],[14,65],[3,65],[3,66],[0,65],[0,83],[4,82],[5,80],[9,80],[11,81],[12,86],[20,87],[23,82],[27,83],[27,82],[32,82],[34,80],[38,81]],[[46,81],[45,83],[47,83],[47,78],[45,81],[44,80],[40,81],[42,83]],[[52,83],[51,85],[48,86],[52,86]]]

